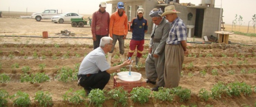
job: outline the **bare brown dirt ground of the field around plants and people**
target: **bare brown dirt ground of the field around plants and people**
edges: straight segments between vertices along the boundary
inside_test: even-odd
[[[226,27],[227,28],[227,27]],[[75,32],[75,36],[65,36],[60,34],[61,30]],[[43,39],[42,32],[48,31],[49,38]],[[9,35],[9,36],[8,36]],[[18,36],[18,37],[16,37]],[[33,37],[22,37],[33,36]],[[84,55],[93,50],[92,39],[90,38],[91,28],[85,26],[83,28],[71,27],[70,23],[56,24],[50,20],[42,20],[37,22],[34,19],[19,18],[0,18],[0,63],[2,69],[0,73],[6,73],[11,77],[9,83],[1,83],[0,89],[5,89],[9,95],[16,94],[19,90],[29,94],[32,100],[31,106],[36,106],[34,102],[34,94],[42,90],[51,93],[54,107],[61,106],[85,106],[69,104],[63,101],[62,95],[69,88],[74,90],[82,89],[74,82],[59,82],[54,78],[62,67],[74,69],[76,64],[80,64]],[[38,37],[38,38],[36,38]],[[77,39],[74,39],[76,37]],[[88,38],[88,39],[87,39]],[[131,38],[129,32],[127,38]],[[148,36],[146,39],[149,39]],[[188,38],[193,41],[193,38]],[[129,39],[125,41],[125,54],[129,50]],[[195,41],[203,41],[196,38]],[[255,37],[244,35],[230,35],[230,41],[234,43],[256,45]],[[148,43],[145,41],[145,49],[143,55],[148,53]],[[113,56],[119,56],[119,48],[116,47]],[[185,57],[184,67],[182,68],[182,77],[180,86],[191,90],[191,98],[186,102],[179,102],[174,99],[172,103],[155,101],[153,98],[144,105],[134,104],[129,99],[129,106],[134,107],[180,107],[181,105],[205,107],[212,105],[213,107],[239,107],[248,105],[253,107],[256,102],[256,94],[253,92],[250,96],[241,94],[237,97],[222,96],[220,99],[210,99],[201,101],[198,97],[199,90],[205,88],[209,92],[213,86],[222,81],[224,84],[232,82],[244,82],[251,86],[254,90],[256,85],[256,46],[238,45],[238,44],[190,44],[188,46],[189,55]],[[35,57],[35,53],[38,57]],[[25,58],[26,57],[26,58]],[[133,67],[132,71],[139,72],[143,78],[145,75],[145,57],[141,58],[142,67],[140,69]],[[13,64],[19,64],[19,68],[12,69]],[[117,57],[112,58],[112,65],[119,63]],[[45,64],[45,68],[39,69],[39,64]],[[29,66],[31,70],[29,74],[44,72],[50,76],[50,82],[43,83],[21,83],[20,75],[23,74],[22,67]],[[57,67],[58,66],[58,67]],[[128,67],[127,67],[128,68]],[[217,71],[217,75],[212,73],[213,69]],[[202,76],[200,71],[206,71],[206,75]],[[232,73],[231,73],[232,72]],[[154,85],[147,84],[146,88],[152,88]],[[113,88],[113,76],[104,88],[109,91]],[[8,106],[12,105],[13,100],[8,100]],[[106,100],[104,107],[113,107],[112,100]]]

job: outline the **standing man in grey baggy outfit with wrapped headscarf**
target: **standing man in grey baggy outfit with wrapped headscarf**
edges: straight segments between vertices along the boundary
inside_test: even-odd
[[[171,25],[165,18],[161,17],[162,13],[161,9],[155,8],[149,14],[154,24],[145,68],[147,83],[156,84],[156,87],[151,89],[153,91],[158,91],[159,87],[165,86],[163,78],[164,49]],[[158,81],[156,82],[157,78]]]

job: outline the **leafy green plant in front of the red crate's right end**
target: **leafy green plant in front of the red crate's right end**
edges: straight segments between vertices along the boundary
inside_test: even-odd
[[[134,103],[144,104],[149,100],[151,90],[144,87],[135,87],[131,90],[131,100]]]

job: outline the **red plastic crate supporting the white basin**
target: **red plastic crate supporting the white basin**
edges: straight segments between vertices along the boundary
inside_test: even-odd
[[[146,81],[143,77],[141,77],[139,81],[123,81],[119,79],[118,76],[114,76],[114,88],[120,86],[123,86],[123,89],[130,93],[134,87],[146,87]]]

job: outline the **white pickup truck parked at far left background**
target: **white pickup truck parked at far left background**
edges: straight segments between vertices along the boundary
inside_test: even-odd
[[[41,21],[42,19],[51,19],[56,15],[59,15],[58,10],[45,10],[43,12],[33,13],[31,17],[36,21]]]

